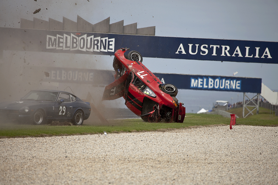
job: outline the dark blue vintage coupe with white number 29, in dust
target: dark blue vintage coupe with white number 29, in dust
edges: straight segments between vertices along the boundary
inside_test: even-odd
[[[19,101],[0,104],[0,121],[32,122],[36,125],[50,121],[70,121],[82,125],[91,113],[91,106],[64,91],[30,91]]]

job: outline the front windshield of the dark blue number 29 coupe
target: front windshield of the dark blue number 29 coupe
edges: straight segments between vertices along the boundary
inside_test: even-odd
[[[58,93],[52,91],[30,91],[21,100],[56,101]]]

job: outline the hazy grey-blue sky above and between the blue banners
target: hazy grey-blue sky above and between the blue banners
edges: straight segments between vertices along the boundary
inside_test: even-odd
[[[19,28],[20,18],[62,22],[64,16],[76,22],[79,15],[92,24],[110,17],[110,24],[124,20],[124,25],[137,23],[137,28],[155,26],[156,36],[278,42],[277,10],[277,0],[1,0],[0,27]],[[113,69],[110,56],[95,56],[92,61],[91,55],[78,55],[75,59],[82,60],[82,66]],[[238,72],[238,77],[262,78],[268,88],[278,89],[278,64],[160,58],[144,58],[144,64],[157,73],[233,76]],[[197,112],[211,109],[216,100],[242,101],[243,93],[179,90],[177,98],[185,103],[187,112]]]

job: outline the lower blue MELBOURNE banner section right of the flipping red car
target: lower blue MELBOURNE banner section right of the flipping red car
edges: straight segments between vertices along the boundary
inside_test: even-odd
[[[261,78],[154,73],[162,83],[179,89],[261,93]]]

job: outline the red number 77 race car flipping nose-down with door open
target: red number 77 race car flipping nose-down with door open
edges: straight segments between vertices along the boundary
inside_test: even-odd
[[[185,107],[179,103],[175,85],[164,84],[142,64],[138,51],[124,53],[129,48],[115,52],[113,68],[115,81],[107,85],[102,100],[123,97],[125,105],[144,121],[183,122]]]

